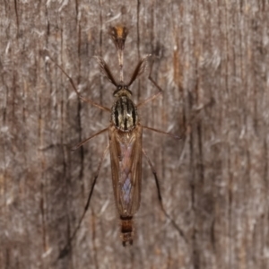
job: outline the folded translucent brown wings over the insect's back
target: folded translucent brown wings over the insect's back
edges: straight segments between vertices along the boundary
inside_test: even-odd
[[[130,132],[109,127],[113,189],[120,216],[133,216],[138,210],[142,178],[142,126]]]

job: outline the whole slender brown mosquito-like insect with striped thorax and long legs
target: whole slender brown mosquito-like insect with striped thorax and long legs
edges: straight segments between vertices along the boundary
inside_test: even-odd
[[[85,139],[81,143],[78,143],[74,147],[74,149],[77,149],[80,146],[82,146],[82,144],[90,141],[93,137],[99,134],[102,134],[104,132],[108,132],[108,137],[109,137],[108,146],[106,150],[103,152],[102,157],[100,159],[100,163],[99,163],[97,172],[94,176],[94,179],[91,185],[91,191],[88,196],[88,200],[85,205],[84,211],[82,213],[82,217],[78,225],[76,226],[72,234],[72,237],[69,239],[69,242],[71,242],[72,239],[74,239],[74,236],[82,223],[84,215],[89,208],[91,195],[92,195],[94,186],[97,182],[97,178],[99,176],[100,166],[108,152],[108,149],[110,152],[114,197],[115,197],[115,202],[117,206],[117,213],[119,216],[119,220],[121,222],[120,232],[121,232],[121,239],[122,239],[123,246],[133,244],[133,239],[134,239],[133,218],[134,218],[134,214],[138,211],[139,204],[140,204],[143,155],[148,161],[152,169],[154,178],[155,178],[158,198],[161,204],[161,210],[163,211],[163,213],[165,213],[165,215],[172,222],[173,226],[178,230],[180,235],[183,237],[182,231],[179,229],[175,221],[173,221],[169,217],[169,214],[165,211],[162,205],[161,190],[160,190],[159,180],[158,180],[156,171],[152,166],[152,161],[150,161],[148,155],[146,154],[142,146],[143,128],[146,128],[146,129],[149,129],[154,132],[161,133],[161,134],[168,134],[169,136],[172,136],[175,139],[181,139],[181,137],[177,135],[169,134],[166,132],[162,132],[152,127],[143,126],[140,123],[138,113],[137,113],[137,108],[156,99],[162,93],[161,87],[157,84],[157,82],[155,82],[152,79],[152,76],[151,76],[152,68],[151,68],[148,79],[158,89],[158,92],[152,95],[152,97],[139,102],[137,105],[135,105],[134,101],[132,100],[132,91],[130,91],[130,87],[133,84],[133,82],[141,74],[144,73],[147,62],[148,62],[148,58],[151,55],[147,55],[139,61],[139,63],[136,65],[134,69],[134,73],[130,81],[126,83],[124,82],[124,73],[123,73],[123,65],[124,65],[123,52],[125,48],[125,41],[128,34],[128,30],[124,26],[111,27],[109,29],[109,34],[117,48],[117,59],[118,59],[118,65],[119,65],[119,82],[117,82],[114,79],[113,74],[111,73],[107,63],[100,56],[96,56],[96,59],[100,66],[101,73],[116,88],[116,90],[113,92],[113,96],[115,97],[115,102],[111,109],[101,106],[100,104],[97,104],[90,99],[86,99],[82,97],[82,95],[77,91],[73,79],[68,74],[65,73],[65,70],[61,66],[57,65],[53,61],[69,79],[70,83],[72,84],[74,88],[74,91],[76,92],[76,94],[81,100],[88,102],[97,108],[108,111],[111,114],[110,124],[107,128],[101,130],[100,132],[96,134],[91,135],[89,138]]]

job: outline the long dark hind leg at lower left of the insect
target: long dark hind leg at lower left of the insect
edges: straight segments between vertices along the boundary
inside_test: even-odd
[[[67,243],[67,244],[65,245],[65,247],[61,250],[61,252],[60,252],[60,254],[59,254],[59,256],[58,256],[58,259],[63,258],[63,257],[68,253],[68,251],[70,250],[70,247],[71,247],[72,240],[74,239],[74,236],[76,235],[76,232],[79,230],[79,228],[80,228],[80,226],[81,226],[81,224],[82,224],[82,220],[83,220],[83,218],[84,218],[84,216],[85,216],[85,214],[86,214],[86,212],[87,212],[87,210],[88,210],[88,208],[89,208],[89,205],[90,205],[91,195],[92,195],[92,193],[93,193],[94,186],[95,186],[96,181],[97,181],[97,178],[98,178],[98,176],[99,176],[99,172],[100,172],[101,164],[102,164],[102,162],[104,161],[104,159],[105,159],[105,157],[106,157],[106,154],[107,154],[107,152],[108,152],[108,147],[109,147],[109,144],[108,144],[108,146],[106,147],[105,151],[103,152],[103,154],[102,154],[102,156],[101,156],[101,159],[100,159],[100,162],[99,162],[99,165],[98,165],[98,169],[97,169],[97,171],[96,171],[96,174],[95,174],[95,176],[94,176],[94,178],[93,178],[93,182],[92,182],[92,184],[91,184],[91,190],[90,190],[90,193],[89,193],[89,196],[88,196],[88,200],[87,200],[87,203],[86,203],[86,205],[85,205],[85,207],[84,207],[84,211],[83,211],[83,213],[82,213],[82,216],[81,216],[81,218],[80,218],[80,220],[79,220],[79,222],[78,222],[78,225],[77,225],[76,228],[74,229],[74,232],[73,232],[72,236],[68,239],[68,243]]]

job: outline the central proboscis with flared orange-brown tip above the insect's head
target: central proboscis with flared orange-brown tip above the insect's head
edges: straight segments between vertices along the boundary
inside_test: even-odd
[[[120,83],[123,84],[123,82],[124,82],[123,52],[124,52],[124,48],[125,48],[126,37],[128,35],[128,30],[126,29],[125,26],[110,27],[109,34],[110,34],[110,36],[111,36],[112,40],[114,41],[114,44],[117,48],[117,59],[118,59],[118,65],[119,65],[119,80],[120,80]]]

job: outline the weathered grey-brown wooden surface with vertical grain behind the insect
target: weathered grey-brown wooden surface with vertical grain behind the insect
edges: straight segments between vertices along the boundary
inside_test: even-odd
[[[120,4],[118,4],[121,2]],[[269,268],[269,4],[267,1],[4,1],[0,4],[0,268]],[[118,77],[107,30],[124,23],[125,77],[152,53],[163,97],[139,110],[143,147],[160,180],[161,212],[143,160],[133,247],[122,247],[108,157],[91,207],[79,220],[109,114],[78,101],[55,59],[84,96],[109,108],[114,88],[92,56]],[[143,76],[134,100],[157,90]]]

